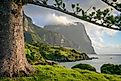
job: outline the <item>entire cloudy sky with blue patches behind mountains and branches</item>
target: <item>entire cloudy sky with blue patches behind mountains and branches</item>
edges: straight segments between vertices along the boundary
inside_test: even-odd
[[[90,6],[96,6],[97,8],[105,9],[109,8],[106,4],[100,0],[65,0],[69,9],[69,3],[79,2],[84,10],[87,10]],[[118,0],[121,2],[121,0]],[[121,32],[102,28],[97,25],[76,19],[69,15],[60,13],[55,10],[46,9],[34,5],[24,6],[25,14],[32,18],[33,23],[43,27],[48,24],[68,24],[75,21],[81,22],[85,25],[87,34],[89,35],[92,45],[97,54],[121,54]],[[90,10],[91,11],[91,10]],[[117,15],[117,11],[113,11]]]

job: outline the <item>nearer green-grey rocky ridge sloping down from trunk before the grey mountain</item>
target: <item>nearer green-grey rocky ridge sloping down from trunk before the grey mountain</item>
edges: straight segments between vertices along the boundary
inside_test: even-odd
[[[63,44],[65,47],[76,48],[78,46],[74,42],[66,39],[66,37],[57,32],[46,30],[33,24],[31,18],[27,16],[25,16],[24,18],[24,36],[27,43],[44,42],[53,46],[61,46],[61,42],[62,40],[64,40]]]

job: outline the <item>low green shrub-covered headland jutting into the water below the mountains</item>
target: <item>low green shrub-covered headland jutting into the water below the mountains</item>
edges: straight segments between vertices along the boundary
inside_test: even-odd
[[[47,44],[37,45],[44,59],[54,61],[77,61],[85,60],[89,57],[85,53],[80,53],[74,49],[64,47],[53,47]]]

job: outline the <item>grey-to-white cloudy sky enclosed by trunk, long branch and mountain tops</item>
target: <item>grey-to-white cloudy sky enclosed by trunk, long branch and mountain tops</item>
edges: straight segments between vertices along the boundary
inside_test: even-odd
[[[38,26],[51,25],[51,24],[69,24],[73,23],[74,18],[60,13],[55,10],[38,7],[35,5],[24,6],[25,14],[32,18]]]

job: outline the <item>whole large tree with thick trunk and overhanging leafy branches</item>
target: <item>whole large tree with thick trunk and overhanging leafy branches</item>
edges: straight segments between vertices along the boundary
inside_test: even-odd
[[[53,5],[48,4],[48,0],[0,0],[0,76],[18,76],[20,74],[28,75],[34,69],[28,64],[24,54],[24,36],[23,36],[23,11],[22,6],[24,4],[34,4],[50,9],[54,9],[84,21],[100,25],[114,30],[120,29],[120,16],[114,17],[107,15],[105,11],[97,10],[96,12],[86,14],[83,9],[79,7],[79,4],[72,4],[73,12],[66,9],[66,5],[62,0],[54,0]],[[107,0],[102,0],[109,6],[119,10],[119,7],[112,5]],[[81,12],[81,15],[79,13]],[[108,13],[108,10],[106,11]],[[103,23],[96,22],[102,17]],[[94,19],[93,19],[93,16]],[[96,17],[97,16],[97,17]],[[107,19],[106,19],[107,18]],[[113,23],[112,18],[117,22]],[[93,21],[95,20],[95,21]],[[113,25],[119,26],[117,28]]]

